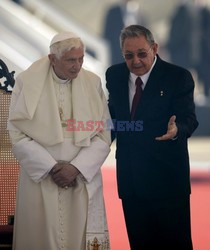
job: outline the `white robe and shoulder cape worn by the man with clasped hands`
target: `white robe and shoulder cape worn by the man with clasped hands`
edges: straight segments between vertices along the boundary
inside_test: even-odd
[[[12,94],[8,129],[21,166],[13,249],[108,250],[100,167],[110,135],[104,128],[63,136],[50,70],[47,58],[39,60],[18,76]],[[110,119],[96,75],[82,69],[72,88],[74,118]],[[59,188],[48,175],[58,160],[79,169],[76,187]]]

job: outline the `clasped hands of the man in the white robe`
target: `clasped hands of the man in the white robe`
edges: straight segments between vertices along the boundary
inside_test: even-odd
[[[66,161],[59,161],[50,171],[53,181],[63,188],[74,186],[78,174],[79,170]]]

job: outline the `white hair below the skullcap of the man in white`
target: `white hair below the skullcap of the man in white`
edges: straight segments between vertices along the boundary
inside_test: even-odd
[[[78,48],[83,48],[85,50],[82,40],[79,37],[69,38],[52,44],[50,46],[50,54],[55,54],[56,58],[60,59],[65,52]]]

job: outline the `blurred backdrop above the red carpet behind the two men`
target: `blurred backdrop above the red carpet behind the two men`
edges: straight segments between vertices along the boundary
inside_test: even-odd
[[[134,23],[152,31],[162,59],[193,75],[199,128],[189,140],[191,170],[208,175],[210,0],[0,0],[0,59],[16,76],[48,54],[58,31],[73,31],[86,45],[84,67],[101,77],[106,93],[107,67],[123,60],[120,31]],[[114,151],[115,144],[105,166],[115,167]]]

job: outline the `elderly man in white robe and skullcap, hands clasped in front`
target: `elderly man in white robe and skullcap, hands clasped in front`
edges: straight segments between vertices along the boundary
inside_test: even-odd
[[[8,130],[20,164],[14,250],[110,249],[101,166],[110,119],[84,44],[55,35],[50,54],[16,79]]]

